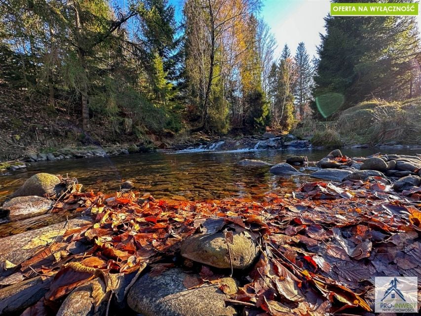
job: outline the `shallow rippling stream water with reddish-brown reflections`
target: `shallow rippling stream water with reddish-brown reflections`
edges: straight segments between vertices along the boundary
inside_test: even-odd
[[[378,148],[344,149],[349,157],[364,157],[379,152]],[[394,154],[415,154],[411,150],[394,150]],[[418,152],[418,151],[417,151]],[[288,179],[272,175],[268,167],[237,166],[241,159],[261,159],[270,163],[284,162],[290,156],[307,156],[309,161],[325,157],[329,150],[250,151],[149,153],[110,158],[83,158],[75,160],[43,161],[32,163],[27,170],[0,176],[0,202],[19,188],[26,179],[38,172],[68,174],[84,185],[83,190],[110,193],[119,189],[122,181],[130,180],[138,191],[151,193],[156,198],[183,196],[187,199],[220,199],[249,197],[261,199],[270,192],[282,194],[296,189],[309,177]],[[384,152],[389,153],[391,152]],[[65,219],[64,215],[51,214],[39,222],[24,221],[2,224],[0,235],[33,229]],[[69,218],[74,214],[66,214]],[[9,227],[9,229],[6,229]],[[7,232],[5,232],[5,230]]]

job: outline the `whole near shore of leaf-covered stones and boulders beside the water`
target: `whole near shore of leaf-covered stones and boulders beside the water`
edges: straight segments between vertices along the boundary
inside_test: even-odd
[[[32,176],[4,220],[78,217],[0,239],[0,314],[368,316],[374,276],[421,276],[419,156],[237,164],[314,182],[260,202],[189,201]]]

